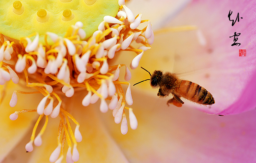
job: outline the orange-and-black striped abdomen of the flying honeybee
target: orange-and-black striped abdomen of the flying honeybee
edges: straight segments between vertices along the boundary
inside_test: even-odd
[[[212,105],[215,103],[212,94],[204,87],[188,80],[180,81],[180,86],[176,88],[181,97],[203,105]]]

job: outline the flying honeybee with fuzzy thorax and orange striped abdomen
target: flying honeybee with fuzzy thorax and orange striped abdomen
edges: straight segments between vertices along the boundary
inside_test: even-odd
[[[196,83],[182,80],[171,72],[165,72],[163,74],[160,70],[155,70],[151,75],[148,70],[143,67],[141,68],[149,73],[150,79],[140,81],[134,85],[150,80],[152,88],[159,88],[157,96],[167,97],[170,93],[173,95],[173,98],[167,101],[168,106],[169,104],[173,104],[177,107],[181,107],[184,102],[180,97],[202,105],[212,105],[215,103],[212,94]]]

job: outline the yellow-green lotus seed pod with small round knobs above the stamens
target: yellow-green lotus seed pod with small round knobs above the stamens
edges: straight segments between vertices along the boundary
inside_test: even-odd
[[[20,40],[37,32],[44,43],[46,32],[64,36],[68,27],[81,21],[88,38],[98,30],[103,17],[115,17],[119,7],[118,0],[1,0],[0,33]]]

